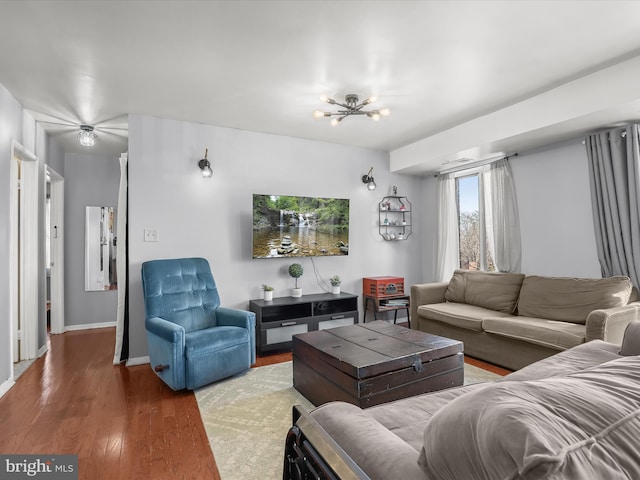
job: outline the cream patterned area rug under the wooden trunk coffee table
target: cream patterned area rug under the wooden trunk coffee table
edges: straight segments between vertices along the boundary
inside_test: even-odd
[[[465,384],[498,375],[464,366]],[[293,405],[313,405],[292,386],[292,362],[252,368],[195,391],[222,480],[280,480]]]

